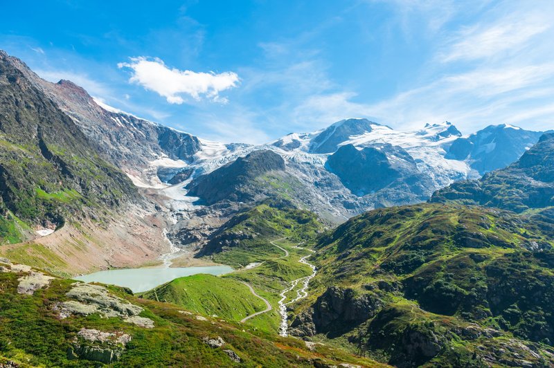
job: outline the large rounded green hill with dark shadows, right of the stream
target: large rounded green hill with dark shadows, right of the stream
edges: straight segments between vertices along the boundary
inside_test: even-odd
[[[397,367],[552,365],[552,230],[436,203],[354,217],[316,244],[290,332]]]

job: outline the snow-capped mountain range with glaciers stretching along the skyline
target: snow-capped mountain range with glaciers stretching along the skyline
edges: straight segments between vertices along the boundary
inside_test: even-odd
[[[425,201],[435,190],[454,181],[477,178],[517,160],[539,138],[539,133],[508,125],[463,137],[450,122],[428,124],[416,131],[396,131],[367,119],[350,118],[265,145],[224,144],[137,118],[91,98],[72,82],[46,82],[19,59],[11,58],[11,62],[139,187],[182,188],[187,183],[197,187],[202,181],[202,190],[196,192],[213,192],[214,188],[206,187],[210,181],[200,176],[265,149],[283,158],[285,169],[280,174],[266,173],[262,179],[256,178],[256,185],[269,185],[269,190],[260,192],[271,194],[271,188],[273,192],[281,191],[281,196],[294,198],[297,205],[328,219],[346,219],[376,207]],[[215,174],[217,183],[225,182],[220,177],[222,172]],[[249,190],[255,192],[256,185],[249,185]]]

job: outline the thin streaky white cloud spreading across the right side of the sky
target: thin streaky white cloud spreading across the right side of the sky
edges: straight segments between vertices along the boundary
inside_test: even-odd
[[[436,1],[394,3],[402,5],[397,8],[402,17],[426,17],[419,19],[423,22],[446,11]],[[485,7],[487,1],[477,3]],[[551,129],[554,55],[548,45],[554,37],[554,6],[542,3],[533,8],[496,3],[473,23],[460,21],[458,28],[441,30],[436,38],[443,39],[442,47],[425,64],[425,78],[409,89],[377,102],[360,102],[357,93],[348,90],[314,93],[294,109],[294,119],[365,116],[399,129],[441,120],[453,121],[465,131],[501,122]],[[463,17],[460,9],[448,4],[449,17]],[[400,22],[412,27],[405,19]]]

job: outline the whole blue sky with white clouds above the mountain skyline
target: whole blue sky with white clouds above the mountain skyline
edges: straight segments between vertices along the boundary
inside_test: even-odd
[[[551,0],[1,2],[0,48],[39,75],[203,138],[554,128]]]

